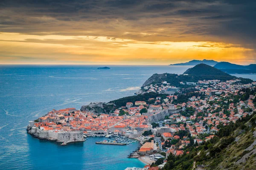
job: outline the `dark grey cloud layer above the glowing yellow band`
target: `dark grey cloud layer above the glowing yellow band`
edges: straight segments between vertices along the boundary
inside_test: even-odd
[[[255,48],[255,6],[255,0],[1,0],[0,31]]]

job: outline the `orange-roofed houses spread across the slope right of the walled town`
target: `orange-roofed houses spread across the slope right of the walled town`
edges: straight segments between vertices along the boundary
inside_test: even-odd
[[[146,142],[141,147],[140,154],[152,154],[161,151],[166,152],[166,158],[170,154],[175,156],[182,155],[184,153],[183,150],[191,142],[200,145],[216,136],[219,130],[218,125],[235,123],[241,117],[256,111],[253,104],[254,95],[249,95],[248,99],[239,99],[238,102],[234,102],[234,97],[245,93],[241,91],[242,88],[252,89],[256,82],[249,84],[240,84],[239,82],[239,79],[234,79],[225,82],[220,80],[203,80],[192,83],[191,85],[196,85],[194,93],[198,92],[201,95],[191,96],[187,102],[174,105],[175,109],[178,108],[181,111],[176,111],[168,116],[168,119],[163,121],[163,127],[151,129],[153,135],[145,136],[148,138],[154,137],[154,143],[158,146],[157,149],[154,149],[152,147],[153,144],[150,144],[152,141]],[[201,98],[201,96],[204,97]],[[170,96],[168,102],[160,105],[164,108],[175,99],[177,99],[177,96]],[[225,105],[226,109],[223,108],[223,105]],[[193,113],[187,115],[187,108],[192,110]],[[187,135],[178,136],[181,130],[186,131]],[[161,146],[158,145],[156,136],[161,137]],[[166,147],[166,143],[172,144]],[[161,166],[158,168],[161,168]]]

